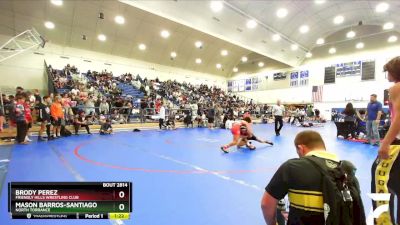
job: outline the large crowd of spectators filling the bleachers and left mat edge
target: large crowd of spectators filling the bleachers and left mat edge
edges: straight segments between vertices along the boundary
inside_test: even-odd
[[[33,123],[41,124],[39,139],[43,140],[44,129],[47,138],[61,136],[67,125],[73,125],[78,134],[80,128],[90,133],[89,125],[129,123],[131,115],[137,114],[141,122],[147,120],[159,121],[160,109],[164,107],[162,128],[175,127],[175,121],[192,125],[197,122],[199,127],[225,127],[226,121],[240,119],[245,113],[261,115],[268,107],[254,104],[252,100],[244,101],[238,96],[224,92],[221,88],[207,85],[193,85],[176,80],[160,81],[158,78],[148,80],[130,73],[115,77],[112,72],[87,71],[80,74],[75,66],[67,65],[63,69],[48,67],[50,78],[55,87],[55,93],[43,98],[39,91],[34,93],[17,88],[15,95],[3,96],[5,112],[0,114],[0,129],[3,128],[4,117],[7,114],[11,125],[22,121],[22,112],[26,114],[26,133]],[[125,96],[118,88],[119,83],[133,85],[144,93],[140,103],[134,104],[132,96]],[[43,115],[48,113],[45,121],[52,123],[51,130],[43,124]],[[19,120],[16,120],[16,118]],[[49,121],[48,121],[49,120]],[[21,125],[22,122],[19,124]],[[164,124],[165,123],[165,124]],[[164,126],[165,125],[165,126]],[[104,125],[105,130],[108,125]],[[17,126],[18,127],[18,126]],[[20,143],[30,139],[19,132]],[[0,130],[1,131],[1,130]],[[103,132],[103,133],[108,133]],[[22,138],[24,136],[24,138]]]

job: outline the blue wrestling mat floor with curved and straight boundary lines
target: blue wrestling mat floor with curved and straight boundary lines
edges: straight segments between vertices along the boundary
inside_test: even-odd
[[[219,150],[231,141],[230,131],[206,128],[81,134],[15,145],[0,195],[0,224],[115,224],[108,220],[11,220],[7,212],[7,183],[11,181],[131,181],[133,212],[123,224],[265,224],[260,209],[264,187],[279,165],[297,157],[293,140],[304,129],[320,132],[329,151],[356,165],[369,213],[370,166],[377,147],[337,139],[333,123],[315,128],[284,124],[279,137],[273,126],[254,125],[255,134],[272,140],[273,147],[253,142],[255,151],[231,148],[230,154]]]

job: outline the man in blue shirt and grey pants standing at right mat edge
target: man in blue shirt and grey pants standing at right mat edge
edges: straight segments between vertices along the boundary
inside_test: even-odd
[[[381,121],[382,115],[382,103],[377,100],[377,95],[372,94],[370,97],[370,102],[367,106],[366,118],[367,118],[367,142],[365,144],[372,144],[374,146],[379,146],[379,123]],[[374,140],[374,143],[372,143]]]

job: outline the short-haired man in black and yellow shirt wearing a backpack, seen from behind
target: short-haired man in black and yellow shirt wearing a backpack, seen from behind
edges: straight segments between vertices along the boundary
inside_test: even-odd
[[[261,200],[265,222],[276,224],[278,200],[288,194],[287,225],[365,225],[353,164],[327,152],[315,131],[300,132],[294,145],[300,158],[282,164],[265,188]]]

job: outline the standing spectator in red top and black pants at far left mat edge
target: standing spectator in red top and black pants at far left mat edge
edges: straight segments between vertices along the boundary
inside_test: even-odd
[[[18,93],[18,91],[17,91]],[[17,103],[15,105],[15,121],[17,123],[17,137],[18,144],[28,144],[25,140],[28,133],[28,121],[25,116],[25,96],[22,93],[17,95]]]

